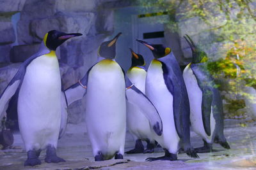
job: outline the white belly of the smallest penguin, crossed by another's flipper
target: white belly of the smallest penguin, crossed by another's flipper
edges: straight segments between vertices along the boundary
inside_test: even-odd
[[[127,72],[129,80],[145,94],[145,81],[147,72],[140,67],[134,67]],[[127,127],[134,139],[154,141],[150,131],[148,119],[138,106],[127,102]]]

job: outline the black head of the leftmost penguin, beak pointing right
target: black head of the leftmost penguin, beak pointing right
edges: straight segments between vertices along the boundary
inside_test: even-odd
[[[49,50],[55,51],[58,46],[67,41],[67,39],[81,36],[81,33],[70,33],[60,32],[56,30],[49,31],[44,36],[44,44]]]

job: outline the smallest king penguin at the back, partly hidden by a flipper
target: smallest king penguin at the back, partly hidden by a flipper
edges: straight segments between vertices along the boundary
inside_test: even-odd
[[[131,48],[132,64],[127,71],[127,77],[134,85],[145,94],[145,81],[147,71],[145,70],[145,60],[139,53],[135,53]],[[150,131],[148,119],[140,108],[127,102],[127,127],[135,140],[135,148],[125,153],[152,153],[154,152],[155,141]],[[141,140],[147,142],[147,148],[144,150]]]

